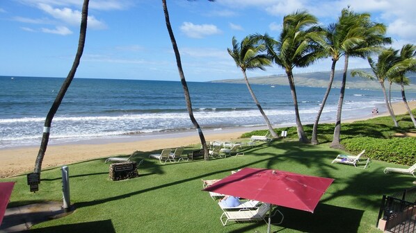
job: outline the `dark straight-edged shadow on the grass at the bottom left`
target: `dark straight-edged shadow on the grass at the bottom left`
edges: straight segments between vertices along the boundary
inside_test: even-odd
[[[88,223],[75,223],[75,224],[64,224],[64,225],[57,225],[54,227],[44,227],[40,229],[33,229],[29,230],[28,232],[42,232],[42,233],[65,233],[65,232],[85,232],[85,233],[101,233],[101,232],[108,232],[108,233],[115,233],[113,223],[111,220],[103,220],[103,221],[94,221]]]

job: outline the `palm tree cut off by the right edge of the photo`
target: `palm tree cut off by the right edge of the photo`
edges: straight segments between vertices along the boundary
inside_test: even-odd
[[[408,78],[406,78],[404,75],[406,74],[407,71],[413,71],[413,72],[416,71],[415,56],[416,56],[415,45],[413,44],[403,45],[400,51],[400,59],[401,59],[401,64],[403,65],[404,69],[403,71],[401,71],[401,74],[399,74],[399,83],[401,87],[401,98],[403,99],[403,102],[406,105],[406,109],[408,110],[408,113],[410,115],[410,119],[412,119],[413,125],[416,128],[415,116],[413,116],[412,110],[410,110],[408,101],[406,100],[406,94],[404,92],[404,85],[408,83]]]

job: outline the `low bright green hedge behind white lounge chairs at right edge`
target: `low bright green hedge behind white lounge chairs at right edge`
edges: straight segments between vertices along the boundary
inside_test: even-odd
[[[342,144],[354,153],[365,150],[365,156],[395,164],[413,165],[416,162],[416,137],[378,139],[356,137],[342,140]]]

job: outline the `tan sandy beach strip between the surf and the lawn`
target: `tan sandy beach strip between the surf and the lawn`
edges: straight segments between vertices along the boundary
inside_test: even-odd
[[[409,105],[411,109],[415,109],[416,101],[410,101]],[[406,107],[402,102],[394,103],[393,107],[395,114],[407,113]],[[388,113],[383,113],[378,114],[377,116],[387,115]],[[356,120],[362,119],[343,122],[346,123]],[[265,128],[266,127],[264,127],[264,129]],[[244,132],[249,132],[250,130],[253,129],[239,128],[232,130],[211,130],[209,132],[204,132],[204,134],[207,141],[234,140],[238,139]],[[129,155],[136,150],[152,151],[198,143],[200,143],[198,134],[196,132],[188,132],[142,138],[131,137],[128,139],[116,140],[90,140],[80,142],[79,144],[49,145],[42,163],[42,169],[100,157]],[[38,146],[0,150],[0,178],[33,171],[38,150]]]

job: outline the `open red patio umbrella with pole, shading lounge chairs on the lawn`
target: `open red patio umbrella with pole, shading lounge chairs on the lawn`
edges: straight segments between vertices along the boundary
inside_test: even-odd
[[[202,189],[314,212],[334,179],[271,169],[241,169]],[[269,214],[270,216],[270,214]],[[270,227],[269,217],[269,227]]]

